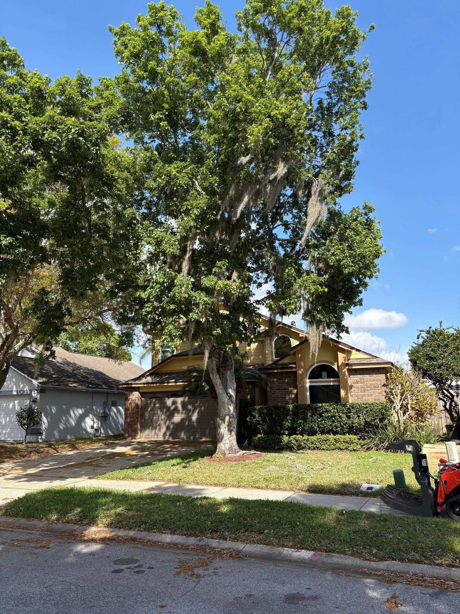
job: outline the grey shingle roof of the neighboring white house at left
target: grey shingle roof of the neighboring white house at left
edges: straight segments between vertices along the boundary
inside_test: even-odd
[[[40,386],[56,386],[75,389],[120,390],[120,382],[141,373],[144,369],[133,362],[117,363],[100,356],[87,356],[53,348],[56,360],[47,360],[35,374],[36,365],[32,358],[18,356],[12,366],[37,381]]]

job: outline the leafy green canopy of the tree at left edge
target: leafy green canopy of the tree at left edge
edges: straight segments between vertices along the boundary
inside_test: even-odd
[[[29,343],[118,309],[139,259],[134,160],[90,77],[51,82],[0,38],[0,387]]]

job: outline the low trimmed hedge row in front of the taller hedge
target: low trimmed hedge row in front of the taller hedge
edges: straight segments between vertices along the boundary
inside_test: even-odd
[[[256,435],[252,445],[263,450],[347,450],[361,449],[358,435]]]

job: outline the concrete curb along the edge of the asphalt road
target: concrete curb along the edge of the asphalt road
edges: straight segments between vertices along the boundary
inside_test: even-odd
[[[89,530],[103,529],[114,537],[131,537],[158,545],[168,546],[207,546],[221,550],[223,548],[236,550],[244,556],[253,559],[264,559],[274,562],[289,562],[304,567],[315,567],[342,572],[388,572],[403,574],[421,574],[432,578],[448,578],[460,580],[460,569],[455,567],[439,567],[437,565],[424,565],[419,563],[401,563],[398,561],[362,561],[345,554],[329,554],[313,552],[311,550],[294,550],[293,548],[277,548],[276,546],[262,546],[242,542],[226,542],[209,537],[185,537],[185,535],[171,535],[164,533],[151,533],[149,531],[133,531],[125,529],[111,529],[109,527],[82,526],[67,523],[46,523],[41,520],[26,520],[24,518],[0,517],[0,528],[42,530],[50,533],[84,533]]]

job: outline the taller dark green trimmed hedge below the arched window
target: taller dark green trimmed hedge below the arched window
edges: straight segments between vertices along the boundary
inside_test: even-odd
[[[390,417],[388,403],[310,403],[259,405],[246,420],[253,435],[359,435]]]

